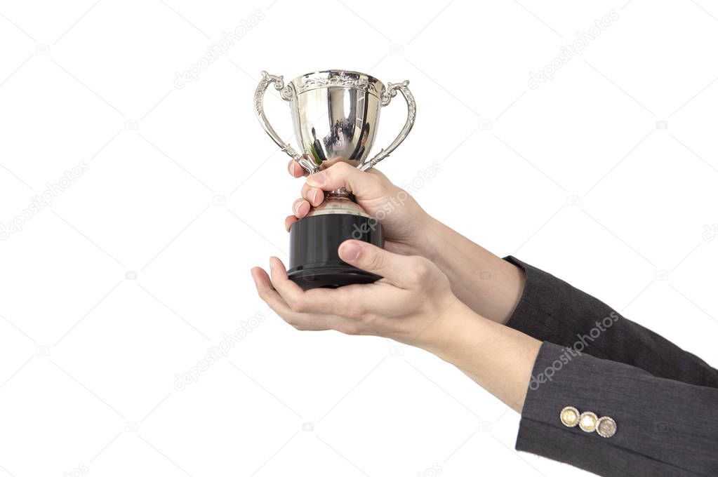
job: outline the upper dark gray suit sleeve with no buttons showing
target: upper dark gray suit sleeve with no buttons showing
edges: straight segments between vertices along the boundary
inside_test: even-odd
[[[526,273],[523,295],[507,326],[656,377],[718,387],[718,370],[694,354],[549,273],[513,257],[505,260]]]

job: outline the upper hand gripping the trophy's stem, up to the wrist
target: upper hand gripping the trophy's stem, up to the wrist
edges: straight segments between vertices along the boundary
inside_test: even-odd
[[[304,174],[299,164],[289,162],[289,173],[295,177]],[[432,217],[419,207],[413,197],[394,185],[376,169],[360,171],[349,164],[337,164],[324,171],[311,174],[302,187],[302,198],[294,201],[292,211],[284,220],[286,230],[309,213],[309,209],[322,204],[324,192],[345,187],[354,194],[356,202],[384,227],[384,247],[401,255],[428,255],[429,227]]]

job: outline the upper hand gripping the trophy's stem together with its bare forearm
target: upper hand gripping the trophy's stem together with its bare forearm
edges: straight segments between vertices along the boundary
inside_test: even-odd
[[[289,173],[301,177],[304,169],[292,160]],[[523,293],[523,270],[426,214],[376,169],[364,172],[338,162],[311,174],[302,187],[302,199],[294,202],[294,214],[285,219],[286,229],[306,217],[311,206],[321,204],[324,191],[342,186],[381,222],[386,250],[428,258],[449,278],[454,295],[475,313],[498,323],[508,321]],[[483,278],[486,276],[490,279]]]

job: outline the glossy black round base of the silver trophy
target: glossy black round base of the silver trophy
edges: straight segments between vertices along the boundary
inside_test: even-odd
[[[297,220],[289,230],[289,279],[309,290],[381,278],[339,258],[339,245],[349,239],[383,247],[384,230],[376,219],[355,214],[317,214]]]

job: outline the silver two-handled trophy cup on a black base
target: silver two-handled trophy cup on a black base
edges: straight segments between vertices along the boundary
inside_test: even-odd
[[[300,151],[284,142],[264,114],[264,94],[269,85],[289,102],[294,136]],[[284,85],[281,76],[262,72],[254,93],[254,108],[264,131],[309,174],[345,162],[362,171],[385,159],[414,126],[416,103],[409,81],[388,83],[355,71],[327,70],[302,75]],[[404,128],[385,149],[370,158],[379,112],[401,92],[408,106]],[[351,283],[372,283],[380,276],[345,263],[337,249],[348,239],[383,247],[384,232],[344,187],[325,192],[325,199],[289,230],[289,278],[302,289],[336,288]]]

